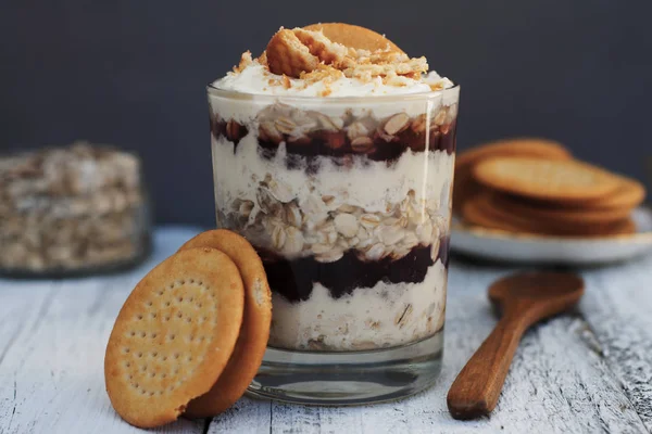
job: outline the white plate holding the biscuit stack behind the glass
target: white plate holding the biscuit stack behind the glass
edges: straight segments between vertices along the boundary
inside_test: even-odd
[[[602,238],[559,238],[466,226],[453,219],[453,252],[491,260],[556,265],[615,263],[652,252],[652,209],[635,209],[637,233]]]

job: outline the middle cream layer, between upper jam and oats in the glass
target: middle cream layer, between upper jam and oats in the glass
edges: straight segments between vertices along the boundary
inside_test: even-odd
[[[285,144],[272,159],[258,154],[258,137],[249,133],[242,138],[234,154],[226,140],[213,139],[214,181],[218,204],[228,209],[236,199],[255,201],[256,187],[266,174],[288,190],[290,197],[300,204],[311,196],[334,196],[325,212],[342,204],[352,204],[366,212],[385,212],[387,203],[402,201],[409,191],[415,192],[417,202],[431,209],[447,209],[450,203],[454,170],[454,155],[435,151],[405,152],[394,166],[386,162],[354,161],[353,167],[343,170],[330,158],[318,157],[318,173],[309,175],[301,166],[286,168]]]

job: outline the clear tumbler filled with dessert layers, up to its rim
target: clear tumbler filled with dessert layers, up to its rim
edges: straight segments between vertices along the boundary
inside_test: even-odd
[[[430,385],[442,357],[460,88],[208,92],[217,226],[255,246],[273,292],[249,392],[342,405]]]

